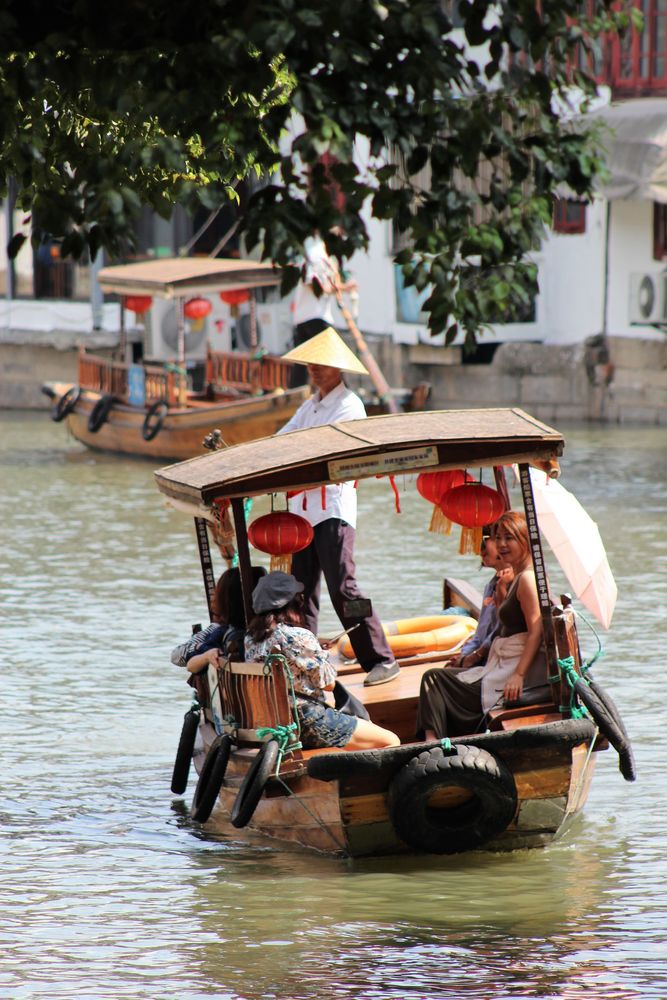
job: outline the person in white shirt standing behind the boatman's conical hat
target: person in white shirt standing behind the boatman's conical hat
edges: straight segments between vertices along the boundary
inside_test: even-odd
[[[336,291],[353,291],[357,283],[343,279],[336,261],[329,256],[324,240],[316,231],[304,243],[301,280],[294,295],[294,346],[299,347],[327,327],[333,326]],[[291,388],[306,385],[308,376],[295,366]]]

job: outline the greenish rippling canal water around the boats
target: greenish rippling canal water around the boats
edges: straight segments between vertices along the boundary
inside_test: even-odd
[[[664,1000],[666,435],[565,435],[562,482],[619,585],[596,673],[638,781],[601,754],[546,850],[352,862],[190,822],[192,779],[169,791],[190,690],[169,653],[206,621],[191,522],[150,463],[0,415],[0,997]],[[486,576],[399,487],[400,515],[385,481],[359,491],[359,575],[384,618],[437,610],[445,573]]]

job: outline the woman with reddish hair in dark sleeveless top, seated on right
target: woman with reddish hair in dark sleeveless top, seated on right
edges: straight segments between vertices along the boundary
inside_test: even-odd
[[[507,511],[491,538],[514,580],[498,609],[500,634],[483,666],[436,668],[424,674],[419,693],[417,736],[442,739],[478,732],[486,714],[504,702],[539,701],[547,684],[542,618],[525,518]]]

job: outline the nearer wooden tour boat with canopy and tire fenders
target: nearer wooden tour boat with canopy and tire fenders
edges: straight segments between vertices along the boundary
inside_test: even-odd
[[[563,446],[558,431],[518,409],[436,411],[297,431],[156,472],[167,501],[195,517],[209,603],[214,578],[204,525],[229,505],[247,610],[245,498],[350,478],[490,467],[508,505],[504,469],[518,464],[550,670],[549,693],[539,704],[491,711],[486,732],[416,743],[421,677],[434,666],[446,669],[454,651],[406,657],[400,674],[376,687],[364,687],[356,664],[343,663],[339,675],[348,690],[401,739],[399,747],[351,752],[300,749],[281,657],[209,667],[191,681],[197,697],[185,715],[172,780],[182,794],[194,760],[194,819],[210,816],[222,830],[349,856],[510,850],[542,846],[565,832],[586,802],[598,752],[610,743],[621,773],[634,780],[623,722],[582,664],[572,603],[552,602],[543,571],[530,469],[557,476]],[[469,585],[446,581],[446,607],[474,614],[476,602]]]

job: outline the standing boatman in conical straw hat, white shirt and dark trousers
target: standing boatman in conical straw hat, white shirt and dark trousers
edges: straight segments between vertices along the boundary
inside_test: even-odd
[[[343,381],[343,372],[368,372],[333,327],[327,327],[306,343],[283,355],[285,361],[305,365],[314,394],[299,407],[278,432],[320,427],[341,420],[366,416],[364,404]],[[322,574],[336,614],[350,632],[350,642],[360,666],[366,671],[364,684],[384,684],[399,672],[382,625],[375,613],[359,621],[345,614],[346,602],[363,599],[355,574],[354,537],[357,523],[357,491],[351,482],[305,490],[289,501],[290,510],[313,527],[313,540],[292,556],[292,573],[304,585],[306,628],[317,635]]]

